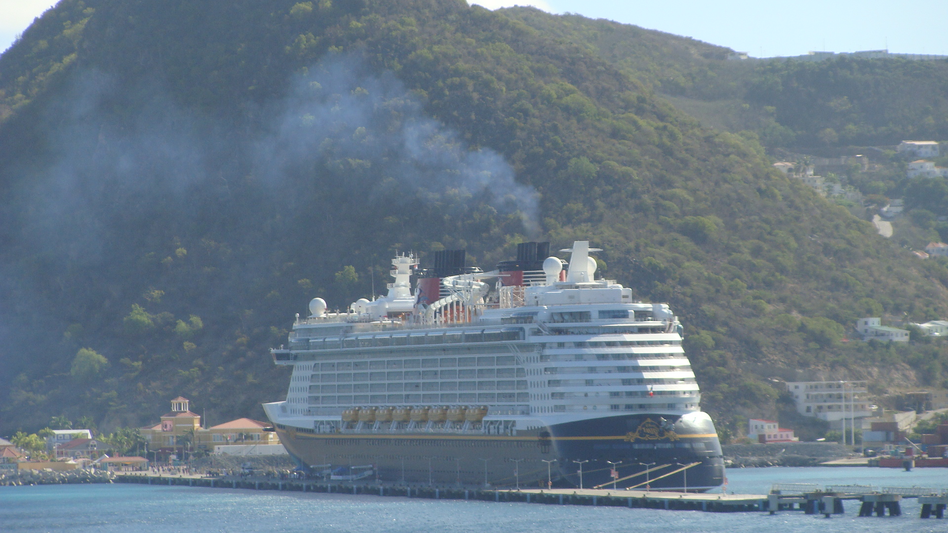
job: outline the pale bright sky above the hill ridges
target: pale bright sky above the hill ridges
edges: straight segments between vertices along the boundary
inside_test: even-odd
[[[693,37],[755,57],[810,50],[948,55],[948,1],[900,7],[891,0],[468,0],[487,9],[530,5]],[[0,49],[50,6],[51,0],[0,0]],[[909,7],[910,6],[910,7]]]

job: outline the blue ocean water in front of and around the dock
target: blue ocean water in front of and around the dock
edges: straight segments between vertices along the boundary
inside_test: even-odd
[[[772,483],[948,488],[948,470],[731,469],[728,492],[765,493]],[[825,519],[802,512],[705,513],[625,507],[413,500],[203,487],[54,485],[0,487],[0,531],[76,533],[549,533],[551,531],[803,533],[945,532],[948,520],[921,520],[904,502],[901,517]]]

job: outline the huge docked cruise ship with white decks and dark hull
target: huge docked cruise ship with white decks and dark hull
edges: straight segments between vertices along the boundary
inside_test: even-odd
[[[301,468],[335,479],[705,491],[724,466],[665,303],[596,279],[597,248],[521,243],[491,271],[441,250],[392,259],[388,295],[327,312],[288,344],[265,403]]]

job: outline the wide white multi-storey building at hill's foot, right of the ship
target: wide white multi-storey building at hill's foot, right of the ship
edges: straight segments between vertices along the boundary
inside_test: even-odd
[[[872,414],[866,381],[788,381],[787,390],[793,395],[796,412],[806,416],[839,422]]]

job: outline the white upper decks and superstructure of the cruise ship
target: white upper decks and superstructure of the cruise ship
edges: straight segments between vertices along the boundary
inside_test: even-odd
[[[706,418],[668,305],[595,280],[588,242],[564,251],[565,276],[556,257],[524,285],[498,271],[449,276],[428,305],[411,294],[410,256],[392,260],[386,297],[347,313],[315,299],[273,350],[293,376],[267,414],[313,432],[496,434],[617,414]]]

